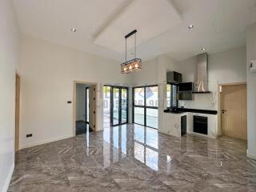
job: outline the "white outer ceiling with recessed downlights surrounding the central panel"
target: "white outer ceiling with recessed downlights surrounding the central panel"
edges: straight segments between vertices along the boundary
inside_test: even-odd
[[[98,46],[95,40],[133,0],[13,1],[22,33],[123,61],[124,53]],[[174,59],[182,60],[200,53],[202,46],[210,54],[245,46],[246,26],[256,22],[256,0],[171,2],[182,21],[165,33],[142,42],[138,46],[138,57],[146,60],[159,54],[168,54]],[[145,11],[143,8],[146,6],[140,7],[142,12],[138,12],[138,18]],[[194,25],[192,30],[187,28],[190,24]],[[72,27],[77,29],[76,33],[70,31]],[[115,41],[115,37],[111,38]]]

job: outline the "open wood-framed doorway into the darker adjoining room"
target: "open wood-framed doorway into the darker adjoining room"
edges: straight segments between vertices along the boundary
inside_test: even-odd
[[[96,129],[96,84],[74,82],[74,134]]]

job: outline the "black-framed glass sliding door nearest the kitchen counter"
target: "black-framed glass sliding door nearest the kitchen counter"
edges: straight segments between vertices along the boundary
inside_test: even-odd
[[[158,129],[158,86],[134,87],[133,97],[133,122]]]

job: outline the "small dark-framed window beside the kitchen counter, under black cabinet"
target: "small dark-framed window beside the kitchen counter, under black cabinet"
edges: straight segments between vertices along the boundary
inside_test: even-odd
[[[168,83],[166,85],[166,106],[178,107],[178,85]]]

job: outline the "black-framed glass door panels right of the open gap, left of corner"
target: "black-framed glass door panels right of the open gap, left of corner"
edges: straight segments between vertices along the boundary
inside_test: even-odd
[[[128,122],[128,88],[110,86],[110,126]]]

